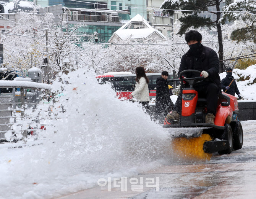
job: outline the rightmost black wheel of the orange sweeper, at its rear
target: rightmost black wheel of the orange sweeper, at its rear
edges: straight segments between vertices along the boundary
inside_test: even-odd
[[[233,131],[233,150],[241,149],[243,146],[243,128],[240,121],[235,121],[231,123]]]

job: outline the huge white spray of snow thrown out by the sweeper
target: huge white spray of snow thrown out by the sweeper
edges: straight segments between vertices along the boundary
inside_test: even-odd
[[[110,84],[98,84],[95,74],[86,70],[63,76],[65,81],[53,83],[63,95],[53,104],[58,120],[47,130],[47,142],[1,147],[0,197],[73,193],[95,186],[99,178],[129,177],[152,169],[167,154],[167,134],[137,103],[118,100]],[[48,105],[31,115],[43,113]]]

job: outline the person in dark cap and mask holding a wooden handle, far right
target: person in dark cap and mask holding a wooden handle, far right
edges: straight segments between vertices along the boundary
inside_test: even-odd
[[[234,77],[232,76],[232,73],[233,73],[232,68],[227,68],[226,73],[227,73],[226,77],[222,79],[220,82],[222,90],[224,92],[227,90],[226,93],[232,96],[235,96],[235,93],[236,93],[239,99],[241,99],[240,92],[237,88],[237,83],[235,82],[235,80],[232,82],[232,80],[234,79]],[[232,84],[229,86],[231,82]]]

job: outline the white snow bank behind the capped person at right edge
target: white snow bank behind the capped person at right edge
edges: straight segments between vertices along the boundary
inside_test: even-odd
[[[222,80],[227,75],[226,72],[220,73]],[[251,65],[245,70],[233,69],[233,77],[236,80],[237,87],[243,100],[256,100],[256,65]],[[237,94],[235,94],[236,97]]]

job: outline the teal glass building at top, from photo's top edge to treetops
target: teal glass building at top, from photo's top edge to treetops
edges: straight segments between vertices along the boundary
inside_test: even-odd
[[[34,1],[35,0],[31,0]],[[66,14],[70,25],[79,22],[87,24],[80,31],[86,34],[98,32],[101,42],[107,42],[112,34],[131,18],[140,14],[146,18],[146,0],[101,0],[99,1],[70,0],[36,0],[45,11],[58,15]],[[55,22],[58,23],[57,18]]]

